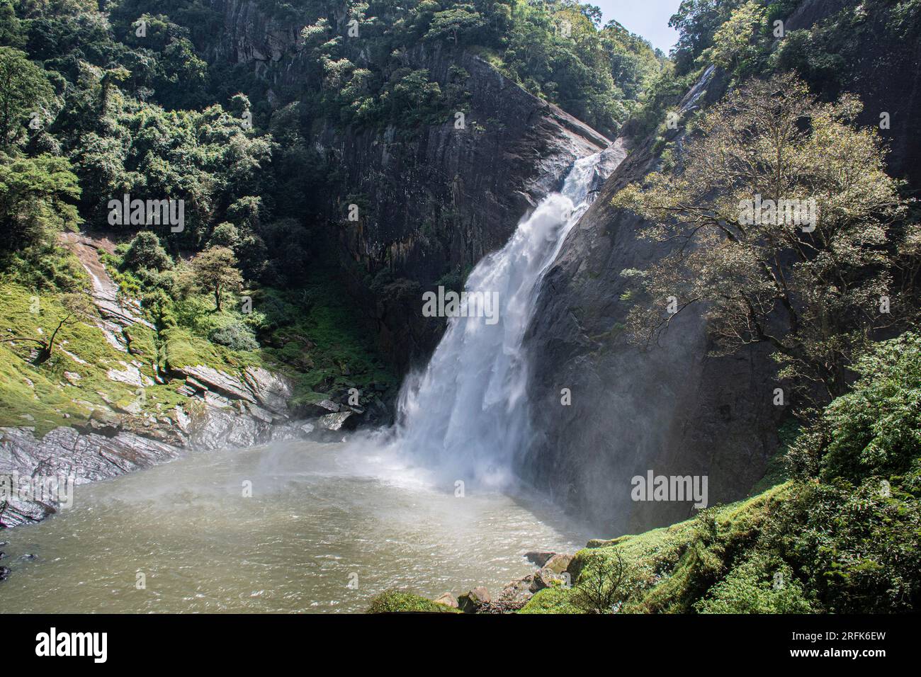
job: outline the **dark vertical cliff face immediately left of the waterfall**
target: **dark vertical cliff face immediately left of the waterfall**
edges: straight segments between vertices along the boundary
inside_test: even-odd
[[[214,0],[227,34],[210,50],[225,64],[249,64],[280,106],[313,71],[297,43],[300,26],[267,18],[241,0]],[[445,274],[462,274],[505,244],[518,220],[560,184],[576,158],[610,141],[501,76],[471,53],[416,46],[405,65],[445,86],[452,66],[469,74],[463,128],[455,111],[418,129],[342,129],[317,123],[312,146],[342,177],[327,216],[352,270],[350,291],[374,321],[380,344],[399,368],[437,344],[443,321],[421,317],[421,294]],[[361,197],[360,218],[346,218],[346,195]],[[370,289],[383,271],[386,280]]]

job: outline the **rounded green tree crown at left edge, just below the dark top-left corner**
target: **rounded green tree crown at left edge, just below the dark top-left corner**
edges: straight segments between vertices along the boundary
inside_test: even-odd
[[[28,54],[0,47],[0,144],[16,143],[30,112],[41,112],[54,91]]]

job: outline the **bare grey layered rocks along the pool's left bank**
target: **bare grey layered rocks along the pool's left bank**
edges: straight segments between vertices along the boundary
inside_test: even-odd
[[[107,378],[139,388],[153,385],[154,380],[142,371],[144,365],[133,353],[128,355],[132,328],[138,324],[153,328],[141,317],[140,305],[117,294],[99,262],[99,241],[68,234],[64,242],[92,279],[99,328],[113,347],[126,353],[118,368],[107,370]],[[80,356],[68,356],[81,362]],[[330,403],[335,420],[317,426],[297,420],[287,404],[292,383],[266,368],[247,367],[232,374],[205,365],[169,365],[167,373],[158,369],[154,373],[160,382],[164,375],[184,379],[178,390],[187,399],[169,410],[146,411],[137,401],[120,405],[99,391],[107,404],[94,409],[86,420],[75,420],[72,427],[57,427],[41,437],[33,427],[0,428],[0,528],[39,521],[55,512],[66,504],[71,484],[111,479],[171,461],[185,449],[316,438],[318,428],[326,436],[323,439],[338,441],[359,418],[356,410]],[[64,379],[78,385],[82,377],[64,372]]]

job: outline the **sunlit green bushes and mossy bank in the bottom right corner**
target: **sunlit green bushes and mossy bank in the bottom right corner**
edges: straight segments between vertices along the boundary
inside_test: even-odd
[[[573,613],[585,578],[598,588],[600,572],[621,558],[630,592],[620,613],[917,609],[919,348],[918,336],[907,333],[857,361],[854,391],[791,445],[795,479],[665,529],[589,542],[569,566],[574,589],[542,590],[522,613]]]

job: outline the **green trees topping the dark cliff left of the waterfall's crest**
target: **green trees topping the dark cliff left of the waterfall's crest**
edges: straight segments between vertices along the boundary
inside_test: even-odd
[[[301,38],[320,66],[318,99],[327,117],[344,123],[443,123],[463,109],[464,92],[451,76],[436,82],[412,67],[408,53],[420,43],[477,53],[606,134],[616,132],[662,66],[646,41],[616,22],[597,28],[597,11],[569,0],[349,3],[345,11],[359,21],[361,49],[335,28],[341,25],[335,15],[307,5],[316,20]],[[404,81],[408,72],[414,75]],[[424,115],[414,112],[420,101]]]

